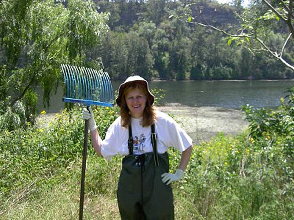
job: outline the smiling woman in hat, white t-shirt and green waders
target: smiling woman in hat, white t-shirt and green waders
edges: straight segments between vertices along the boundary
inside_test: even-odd
[[[118,117],[102,141],[90,108],[83,119],[89,120],[92,145],[106,160],[117,153],[125,156],[118,181],[117,199],[121,219],[174,219],[170,183],[180,180],[192,151],[192,139],[167,114],[153,107],[154,96],[148,82],[131,76],[119,87],[116,103]],[[169,173],[169,146],[182,152],[176,173]]]

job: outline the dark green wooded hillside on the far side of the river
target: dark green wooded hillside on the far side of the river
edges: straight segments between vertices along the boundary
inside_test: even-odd
[[[112,79],[123,80],[133,74],[164,80],[293,78],[292,70],[286,70],[280,61],[270,59],[262,50],[249,53],[245,47],[258,49],[251,38],[226,38],[220,32],[186,22],[188,17],[192,23],[202,21],[226,31],[236,30],[241,23],[235,12],[245,11],[240,7],[240,1],[235,1],[234,6],[207,1],[141,1],[137,4],[132,1],[97,1],[96,5],[101,7],[99,11],[109,11],[114,15],[112,33],[96,53]],[[248,12],[244,13],[248,14],[246,19],[251,22]],[[266,12],[265,9],[261,12],[254,10],[250,15],[256,13],[261,16]],[[262,26],[263,21],[255,21],[252,30]],[[260,32],[273,48],[281,48],[282,40],[287,37],[273,26]],[[136,42],[143,46],[139,47]],[[284,55],[286,60],[291,60],[293,46],[290,42],[288,47],[290,49],[284,51]],[[137,62],[136,57],[141,62]]]

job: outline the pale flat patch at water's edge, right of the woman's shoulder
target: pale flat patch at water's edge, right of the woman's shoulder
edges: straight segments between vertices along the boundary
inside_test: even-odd
[[[241,111],[221,107],[189,107],[178,103],[158,106],[158,110],[176,116],[178,122],[193,139],[193,143],[209,141],[223,132],[236,135],[248,127]]]

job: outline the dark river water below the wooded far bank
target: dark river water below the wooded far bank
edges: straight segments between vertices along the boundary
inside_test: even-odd
[[[113,89],[117,90],[121,82],[114,81]],[[280,104],[280,98],[285,97],[285,91],[294,86],[291,80],[262,81],[154,81],[149,82],[151,89],[163,89],[164,98],[160,104],[181,104],[190,107],[216,106],[227,109],[240,109],[249,104],[261,108],[275,108]],[[62,103],[63,86],[51,96],[51,105],[44,108],[41,89],[38,109],[48,113],[59,112],[64,107]]]

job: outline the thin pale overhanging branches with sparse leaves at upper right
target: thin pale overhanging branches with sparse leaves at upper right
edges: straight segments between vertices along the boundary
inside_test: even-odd
[[[229,32],[224,28],[194,21],[193,16],[190,13],[190,7],[193,4],[194,3],[185,6],[184,9],[187,13],[179,15],[173,12],[171,16],[176,16],[177,18],[185,20],[188,23],[222,32],[228,37],[229,45],[235,40],[237,44],[244,45],[251,53],[260,53],[265,51],[271,57],[282,62],[286,67],[294,70],[293,61],[284,57],[289,41],[294,38],[294,11],[292,0],[251,1],[249,8],[243,10],[238,15],[241,25],[235,32]],[[273,28],[283,31],[285,30],[285,26],[288,28],[288,33],[283,34],[283,44],[280,45],[280,47],[277,47],[278,45],[273,46],[267,36],[268,31]]]

